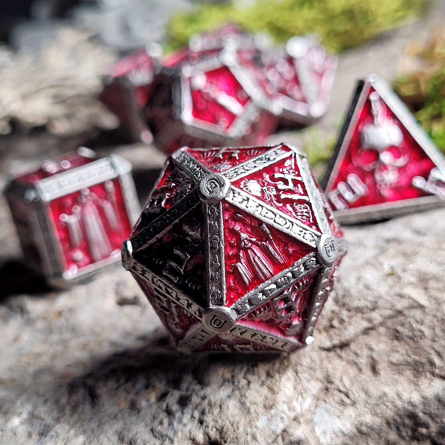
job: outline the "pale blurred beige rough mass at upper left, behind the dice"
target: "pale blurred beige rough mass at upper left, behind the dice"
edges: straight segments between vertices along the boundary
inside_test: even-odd
[[[115,128],[116,117],[96,96],[116,55],[90,41],[91,32],[51,31],[53,40],[36,54],[0,47],[0,134],[12,124],[23,131],[44,125],[62,137]]]

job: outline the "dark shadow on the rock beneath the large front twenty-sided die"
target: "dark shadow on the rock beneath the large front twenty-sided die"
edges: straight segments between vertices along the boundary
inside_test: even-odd
[[[67,384],[70,394],[85,391],[86,388],[117,389],[122,381],[134,387],[134,393],[140,392],[141,379],[145,380],[145,389],[161,386],[164,388],[158,398],[164,398],[170,390],[182,390],[182,382],[186,376],[192,376],[198,386],[222,383],[222,379],[214,378],[211,374],[217,370],[226,371],[228,368],[254,369],[261,363],[273,363],[275,360],[286,360],[283,353],[230,353],[230,352],[197,352],[184,354],[179,351],[170,339],[162,332],[146,343],[142,348],[128,349],[117,352],[104,360],[91,364],[85,374],[77,376]],[[217,372],[218,373],[218,372]],[[225,374],[225,372],[223,372]],[[187,379],[186,379],[187,380]],[[190,380],[190,379],[188,379]],[[190,382],[189,382],[190,385]],[[128,393],[133,391],[130,388]],[[82,395],[87,396],[87,394]],[[107,396],[119,398],[117,391],[109,391]],[[157,401],[158,401],[157,398]]]

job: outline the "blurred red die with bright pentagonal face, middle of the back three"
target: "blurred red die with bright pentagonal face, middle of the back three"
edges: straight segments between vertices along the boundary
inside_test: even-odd
[[[170,154],[186,144],[263,144],[277,121],[263,103],[254,74],[229,46],[164,75],[146,113],[155,145]]]

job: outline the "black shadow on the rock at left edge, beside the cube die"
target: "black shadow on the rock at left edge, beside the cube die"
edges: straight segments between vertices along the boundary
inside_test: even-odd
[[[0,303],[12,295],[39,295],[51,291],[43,275],[16,259],[0,262]]]

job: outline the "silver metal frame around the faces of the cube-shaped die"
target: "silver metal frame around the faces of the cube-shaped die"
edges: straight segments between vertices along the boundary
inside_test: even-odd
[[[62,268],[60,243],[55,237],[53,222],[49,216],[49,203],[58,197],[73,193],[82,188],[92,186],[109,179],[117,178],[125,202],[125,208],[130,224],[138,220],[140,206],[133,177],[131,164],[117,154],[99,158],[83,166],[67,170],[63,173],[41,179],[33,184],[11,179],[4,188],[12,217],[17,222],[27,221],[32,244],[39,252],[40,261],[27,258],[28,265],[43,273],[48,283],[54,287],[69,287],[79,282],[87,281],[104,267],[119,261],[120,256],[107,258],[90,264],[77,271],[76,274],[66,273]],[[17,206],[17,201],[21,203]],[[24,246],[24,237],[19,238]],[[28,243],[30,244],[30,243]]]

